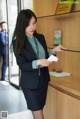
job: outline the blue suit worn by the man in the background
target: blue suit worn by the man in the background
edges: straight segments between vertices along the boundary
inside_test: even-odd
[[[8,65],[8,35],[5,31],[0,31],[0,54],[3,60],[1,80],[5,80],[6,68]]]

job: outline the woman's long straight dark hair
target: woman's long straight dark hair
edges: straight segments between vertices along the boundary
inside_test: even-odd
[[[23,51],[26,37],[25,29],[29,25],[30,19],[32,17],[34,17],[37,22],[36,15],[30,9],[21,10],[18,14],[16,27],[12,38],[12,41],[16,39],[16,47],[15,47],[16,54],[20,54]]]

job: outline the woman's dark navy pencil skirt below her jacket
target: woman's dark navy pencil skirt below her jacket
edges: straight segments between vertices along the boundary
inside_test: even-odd
[[[28,109],[31,111],[38,111],[43,109],[46,103],[48,82],[37,89],[25,89],[22,88]]]

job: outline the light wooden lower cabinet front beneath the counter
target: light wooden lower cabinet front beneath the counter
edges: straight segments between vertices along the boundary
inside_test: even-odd
[[[79,119],[80,100],[49,86],[44,116],[45,119]]]

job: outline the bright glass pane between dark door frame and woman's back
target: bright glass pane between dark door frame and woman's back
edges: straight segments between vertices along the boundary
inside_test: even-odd
[[[9,26],[9,79],[10,82],[19,86],[19,68],[13,51],[10,48],[12,35],[18,14],[17,0],[7,0],[8,26]]]

